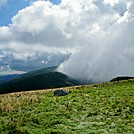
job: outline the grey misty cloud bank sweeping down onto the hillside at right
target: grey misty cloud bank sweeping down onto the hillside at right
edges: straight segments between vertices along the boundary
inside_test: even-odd
[[[134,76],[134,3],[94,1],[93,4],[97,6],[92,11],[93,23],[89,22],[92,19],[89,15],[85,25],[91,28],[83,29],[86,43],[61,64],[59,70],[91,82],[108,81],[121,75]]]

